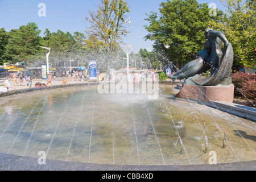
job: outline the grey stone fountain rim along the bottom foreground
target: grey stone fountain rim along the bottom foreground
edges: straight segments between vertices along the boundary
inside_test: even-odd
[[[40,165],[38,158],[0,153],[0,171],[256,171],[256,160],[220,164],[136,166],[47,159],[45,165]]]

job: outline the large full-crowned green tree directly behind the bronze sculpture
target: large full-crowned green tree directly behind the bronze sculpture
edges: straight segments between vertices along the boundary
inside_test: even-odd
[[[147,14],[148,31],[146,40],[154,40],[154,49],[166,55],[169,60],[183,67],[195,59],[196,53],[203,48],[204,31],[209,20],[218,18],[209,16],[207,3],[199,4],[196,0],[167,0],[160,3],[160,15]],[[165,60],[167,62],[167,60]]]

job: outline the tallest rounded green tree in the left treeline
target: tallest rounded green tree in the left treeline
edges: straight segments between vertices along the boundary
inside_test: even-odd
[[[9,32],[6,56],[10,57],[11,63],[25,61],[27,56],[36,55],[40,49],[40,32],[36,23],[28,23],[26,26],[20,26],[19,29]]]

